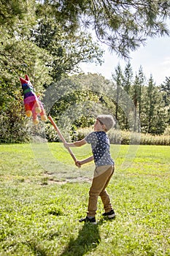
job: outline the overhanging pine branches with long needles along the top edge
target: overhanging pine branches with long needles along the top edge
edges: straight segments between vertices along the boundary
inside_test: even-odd
[[[66,31],[90,27],[101,42],[124,57],[147,37],[169,34],[170,2],[166,0],[46,0],[42,8],[49,4]]]

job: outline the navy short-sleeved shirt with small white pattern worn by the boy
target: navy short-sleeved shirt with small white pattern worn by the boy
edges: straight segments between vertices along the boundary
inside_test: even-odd
[[[110,144],[106,132],[91,132],[85,137],[85,141],[91,144],[96,166],[114,165],[109,152]]]

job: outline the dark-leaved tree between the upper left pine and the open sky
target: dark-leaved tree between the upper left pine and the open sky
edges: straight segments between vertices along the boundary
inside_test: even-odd
[[[29,39],[49,53],[50,58],[45,61],[45,65],[55,82],[70,73],[80,71],[80,62],[102,63],[103,50],[100,50],[97,43],[93,43],[90,34],[77,30],[70,37],[55,17],[39,18]]]

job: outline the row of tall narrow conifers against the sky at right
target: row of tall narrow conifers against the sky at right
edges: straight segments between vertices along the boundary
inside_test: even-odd
[[[125,67],[125,72],[129,64]],[[134,104],[134,132],[151,133],[152,135],[161,135],[169,124],[169,108],[165,107],[163,103],[163,92],[155,85],[155,82],[150,76],[147,81],[144,77],[142,67],[139,68],[139,73],[135,76],[134,80],[131,80],[131,84],[128,86],[128,94],[123,102],[123,94],[121,89],[127,91],[125,87],[125,79],[130,79],[133,73],[123,75],[121,67],[115,68],[115,73],[112,74],[112,78],[115,82],[115,88],[117,91],[117,98],[115,100],[116,110],[115,117],[119,121],[120,129],[129,129],[128,127],[128,114],[123,113],[122,109],[128,106],[128,99],[131,99]],[[118,104],[117,104],[118,102]],[[121,109],[121,108],[122,109]]]

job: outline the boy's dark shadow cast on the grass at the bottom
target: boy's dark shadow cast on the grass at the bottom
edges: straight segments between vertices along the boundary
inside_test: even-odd
[[[98,227],[102,224],[102,220],[96,225],[85,223],[77,238],[70,238],[69,244],[66,246],[61,255],[58,256],[82,256],[87,252],[96,249],[101,241]]]

